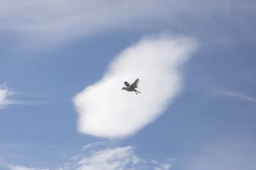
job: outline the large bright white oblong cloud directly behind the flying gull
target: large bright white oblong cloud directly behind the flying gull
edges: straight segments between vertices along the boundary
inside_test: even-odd
[[[181,68],[197,42],[167,35],[145,37],[119,55],[102,79],[73,98],[81,133],[119,138],[132,135],[160,116],[182,87]],[[121,91],[140,78],[141,94]]]

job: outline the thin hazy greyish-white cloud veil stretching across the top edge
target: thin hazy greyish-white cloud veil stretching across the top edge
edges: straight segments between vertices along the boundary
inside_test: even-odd
[[[252,2],[242,0],[1,0],[0,30],[27,40],[39,37],[37,43],[49,44],[119,28],[180,25],[180,14],[228,15],[254,11],[254,7]]]

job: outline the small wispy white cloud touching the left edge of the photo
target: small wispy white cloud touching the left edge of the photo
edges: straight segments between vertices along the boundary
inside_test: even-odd
[[[9,105],[38,105],[38,104],[45,104],[48,102],[48,100],[18,100],[13,99],[14,96],[30,96],[25,94],[19,94],[14,91],[11,91],[6,85],[0,85],[0,109],[6,108]],[[31,97],[37,97],[37,96],[31,96]],[[43,97],[37,97],[37,98],[43,98]]]

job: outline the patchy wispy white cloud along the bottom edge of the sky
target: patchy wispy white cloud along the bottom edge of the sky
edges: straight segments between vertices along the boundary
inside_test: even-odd
[[[97,146],[97,143],[91,144]],[[73,159],[76,157],[76,159]],[[78,152],[63,165],[53,169],[30,168],[6,163],[9,170],[169,170],[172,159],[154,161],[140,158],[132,146],[94,148],[87,153]]]

